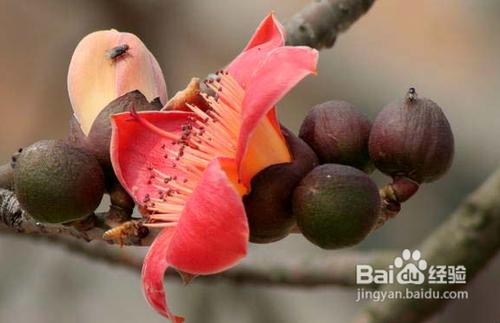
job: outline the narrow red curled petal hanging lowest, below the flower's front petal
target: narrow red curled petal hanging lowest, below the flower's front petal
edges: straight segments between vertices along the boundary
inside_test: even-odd
[[[184,319],[175,316],[167,306],[167,294],[163,285],[165,271],[168,268],[167,250],[174,233],[174,228],[163,229],[156,237],[144,258],[142,265],[142,288],[149,304],[161,315],[174,323],[182,323]]]

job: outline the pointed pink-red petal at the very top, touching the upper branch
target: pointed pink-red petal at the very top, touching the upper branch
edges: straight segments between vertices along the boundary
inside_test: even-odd
[[[269,52],[283,46],[284,43],[284,28],[274,15],[270,14],[260,23],[243,52],[227,66],[226,70],[245,88]]]

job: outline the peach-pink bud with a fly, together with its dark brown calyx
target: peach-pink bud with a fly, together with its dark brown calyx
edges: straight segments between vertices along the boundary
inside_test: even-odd
[[[74,112],[69,140],[90,151],[107,178],[114,176],[110,117],[131,108],[160,110],[167,101],[165,80],[154,56],[137,36],[114,29],[80,41],[69,65],[68,92]]]

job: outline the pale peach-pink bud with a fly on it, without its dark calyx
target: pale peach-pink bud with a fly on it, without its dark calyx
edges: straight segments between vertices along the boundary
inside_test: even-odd
[[[90,128],[101,110],[121,95],[139,90],[149,101],[167,100],[161,68],[135,35],[112,30],[85,36],[73,53],[68,92],[82,131]]]

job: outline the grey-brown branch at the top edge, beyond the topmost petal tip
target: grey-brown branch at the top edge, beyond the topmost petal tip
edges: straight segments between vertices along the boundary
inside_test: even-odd
[[[364,15],[375,0],[318,0],[286,24],[287,44],[330,48],[337,36]]]

